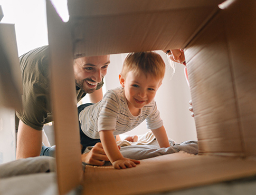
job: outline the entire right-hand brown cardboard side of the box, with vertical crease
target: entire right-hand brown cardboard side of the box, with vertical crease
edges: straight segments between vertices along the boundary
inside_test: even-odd
[[[235,2],[187,46],[201,154],[255,155],[255,11],[255,2]]]

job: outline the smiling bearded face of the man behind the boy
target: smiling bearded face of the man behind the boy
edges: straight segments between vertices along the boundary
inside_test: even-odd
[[[75,84],[84,93],[92,93],[107,74],[109,55],[80,57],[74,60]]]

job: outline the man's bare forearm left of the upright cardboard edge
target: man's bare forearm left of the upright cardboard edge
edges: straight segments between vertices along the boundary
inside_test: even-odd
[[[16,159],[37,157],[42,149],[42,131],[24,124],[18,124]]]

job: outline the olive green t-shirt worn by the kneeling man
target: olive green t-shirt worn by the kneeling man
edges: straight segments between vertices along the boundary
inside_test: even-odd
[[[23,54],[20,57],[23,82],[23,110],[16,111],[17,118],[36,130],[53,121],[50,101],[49,47],[42,46]],[[103,85],[98,84],[97,90]],[[77,101],[86,93],[77,87]],[[18,128],[16,120],[16,129]]]

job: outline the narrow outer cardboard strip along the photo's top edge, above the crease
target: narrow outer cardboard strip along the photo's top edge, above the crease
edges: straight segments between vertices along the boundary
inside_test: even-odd
[[[102,17],[143,12],[165,12],[205,7],[216,7],[224,0],[68,0],[70,17]]]

